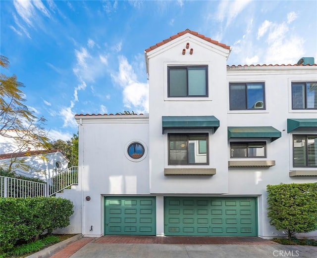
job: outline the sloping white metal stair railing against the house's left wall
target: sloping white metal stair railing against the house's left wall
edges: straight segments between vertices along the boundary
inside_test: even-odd
[[[71,167],[48,179],[48,196],[78,184],[78,167]]]

